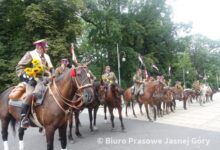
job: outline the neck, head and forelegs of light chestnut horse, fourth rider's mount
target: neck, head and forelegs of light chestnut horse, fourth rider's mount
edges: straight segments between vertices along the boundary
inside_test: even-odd
[[[153,95],[156,97],[156,93],[160,93],[161,90],[164,87],[164,84],[160,81],[151,81],[148,83],[145,83],[145,89],[144,89],[144,94],[139,95],[138,100],[140,103],[143,103],[146,109],[147,113],[147,118],[149,121],[152,121],[151,117],[149,116],[149,111],[148,111],[148,105],[150,105],[153,108],[154,111],[154,120],[156,120],[156,101],[153,98]],[[156,92],[156,93],[155,93]]]

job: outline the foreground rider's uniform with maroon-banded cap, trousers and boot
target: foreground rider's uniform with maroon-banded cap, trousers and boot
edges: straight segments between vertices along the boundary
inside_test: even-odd
[[[34,43],[42,47],[47,46],[45,40],[39,40]],[[43,76],[29,77],[25,73],[25,68],[32,67],[32,61],[37,60],[41,66],[44,67]],[[26,83],[26,98],[22,104],[21,108],[21,127],[26,128],[29,125],[29,120],[27,118],[27,112],[31,105],[32,96],[42,96],[42,92],[46,89],[45,84],[49,81],[48,76],[50,74],[49,70],[53,68],[50,57],[43,53],[40,54],[37,49],[27,52],[16,66],[16,74],[21,78],[23,82]]]

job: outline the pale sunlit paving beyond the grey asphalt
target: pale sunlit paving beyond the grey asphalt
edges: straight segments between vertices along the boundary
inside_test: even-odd
[[[200,106],[199,103],[187,104],[187,110],[183,109],[183,104],[177,101],[175,113],[169,113],[163,117],[157,118],[156,123],[170,124],[175,126],[190,127],[196,129],[204,129],[209,131],[220,132],[220,93],[213,97],[214,101]],[[132,109],[128,109],[129,119],[146,120],[145,108],[142,108],[144,115],[142,116],[139,107],[135,105],[137,118],[133,117]],[[98,111],[99,115],[103,115],[103,108]],[[118,116],[117,111],[114,114]],[[125,116],[125,108],[123,108],[123,116]]]

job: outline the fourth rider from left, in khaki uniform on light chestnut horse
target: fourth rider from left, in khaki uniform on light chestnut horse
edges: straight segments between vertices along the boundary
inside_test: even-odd
[[[133,76],[133,82],[134,82],[133,94],[135,96],[135,99],[137,100],[138,95],[144,94],[144,81],[142,79],[142,72],[140,68],[136,70],[136,73]]]

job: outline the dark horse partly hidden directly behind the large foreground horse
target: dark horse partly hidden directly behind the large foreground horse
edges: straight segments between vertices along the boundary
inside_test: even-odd
[[[106,84],[102,81],[95,81],[93,83],[93,92],[94,92],[94,99],[93,101],[88,104],[87,106],[82,106],[80,109],[73,109],[73,113],[75,114],[75,134],[78,137],[81,137],[81,133],[79,132],[79,113],[81,110],[83,110],[85,107],[88,108],[88,113],[89,113],[89,121],[90,121],[90,131],[93,132],[94,130],[97,130],[96,127],[96,115],[97,115],[97,111],[100,105],[104,104],[104,100],[105,100],[105,93],[106,93]],[[92,111],[93,111],[93,115],[92,115]],[[68,138],[69,140],[73,140],[73,136],[72,136],[72,124],[73,124],[73,113],[71,113],[69,115],[69,132],[68,132]],[[93,122],[92,122],[93,121]]]

